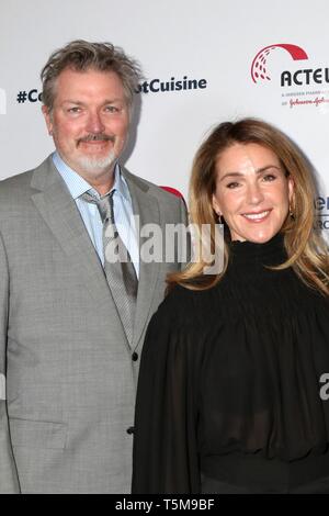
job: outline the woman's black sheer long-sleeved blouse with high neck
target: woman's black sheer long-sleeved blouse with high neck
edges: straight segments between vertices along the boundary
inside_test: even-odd
[[[139,372],[133,492],[198,493],[201,472],[218,478],[224,457],[286,463],[327,452],[329,400],[320,391],[329,302],[292,269],[266,267],[285,258],[281,235],[232,243],[215,288],[177,287],[154,315]]]

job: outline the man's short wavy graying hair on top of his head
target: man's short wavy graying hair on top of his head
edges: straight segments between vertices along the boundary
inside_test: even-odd
[[[70,42],[55,51],[41,72],[43,81],[43,103],[52,111],[56,94],[56,81],[66,68],[76,71],[114,71],[122,80],[125,98],[129,108],[134,93],[143,78],[137,60],[127,56],[124,51],[112,43],[90,43],[83,40]]]

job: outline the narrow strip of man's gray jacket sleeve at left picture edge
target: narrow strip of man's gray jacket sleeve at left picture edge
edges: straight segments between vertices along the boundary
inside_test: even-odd
[[[0,493],[19,494],[20,483],[12,452],[5,401],[8,298],[8,262],[0,235]]]

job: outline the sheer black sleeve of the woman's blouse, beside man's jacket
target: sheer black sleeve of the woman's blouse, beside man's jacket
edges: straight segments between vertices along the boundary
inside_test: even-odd
[[[133,493],[198,493],[193,336],[164,303],[141,356],[134,438]]]

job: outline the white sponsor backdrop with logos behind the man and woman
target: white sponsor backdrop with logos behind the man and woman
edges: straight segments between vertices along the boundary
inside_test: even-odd
[[[317,224],[329,236],[327,0],[10,0],[0,10],[0,179],[52,150],[39,71],[71,40],[110,41],[137,58],[125,164],[188,195],[192,159],[216,124],[257,116],[283,130],[318,180]]]

